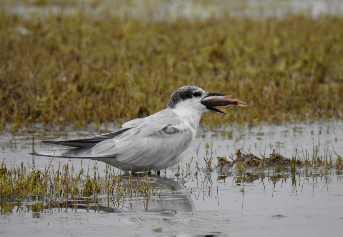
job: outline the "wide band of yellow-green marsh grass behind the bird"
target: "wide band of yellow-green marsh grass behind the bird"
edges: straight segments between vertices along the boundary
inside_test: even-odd
[[[182,85],[250,105],[206,115],[209,125],[342,118],[343,17],[227,11],[156,21],[113,9],[22,16],[1,8],[0,128],[119,124],[165,108]]]

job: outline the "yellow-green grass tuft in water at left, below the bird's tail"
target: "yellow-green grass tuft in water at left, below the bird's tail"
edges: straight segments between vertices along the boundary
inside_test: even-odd
[[[9,212],[14,206],[20,208],[23,200],[39,204],[25,205],[26,211],[66,207],[77,209],[79,202],[86,205],[96,203],[98,195],[114,198],[119,207],[127,198],[144,198],[148,201],[151,196],[159,196],[163,189],[163,179],[160,184],[155,184],[148,173],[125,174],[124,178],[120,171],[111,173],[107,166],[105,177],[99,177],[96,169],[93,169],[93,175],[88,169],[87,175],[83,176],[83,171],[75,171],[68,164],[59,166],[56,171],[50,164],[45,171],[26,170],[23,163],[8,169],[3,160],[0,168],[0,213]]]

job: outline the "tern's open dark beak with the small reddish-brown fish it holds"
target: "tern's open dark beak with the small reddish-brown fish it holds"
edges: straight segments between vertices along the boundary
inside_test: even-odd
[[[209,93],[207,96],[203,97],[201,104],[205,105],[208,109],[212,109],[219,113],[224,113],[223,109],[217,108],[215,106],[249,106],[244,101],[231,99],[231,95],[221,94],[221,93]]]

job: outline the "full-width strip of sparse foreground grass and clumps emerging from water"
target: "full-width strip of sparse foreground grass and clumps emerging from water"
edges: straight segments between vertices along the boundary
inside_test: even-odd
[[[302,158],[295,154],[299,159],[287,159],[275,153],[270,158],[259,159],[252,154],[243,155],[241,150],[237,150],[236,155],[236,159],[231,162],[218,157],[218,165],[211,166],[211,152],[210,157],[204,158],[204,169],[199,169],[199,163],[192,162],[192,158],[185,169],[174,167],[174,171],[177,171],[173,172],[174,178],[167,179],[169,181],[166,182],[187,182],[197,179],[198,175],[204,182],[203,172],[205,176],[211,176],[211,172],[216,170],[218,180],[232,175],[235,176],[236,183],[263,180],[264,177],[277,182],[292,177],[292,183],[295,184],[295,175],[341,175],[343,169],[341,156],[335,154],[335,157],[332,153],[324,157],[314,153],[311,157]],[[23,201],[28,203],[24,205],[25,211],[44,212],[56,208],[72,208],[76,211],[80,203],[89,205],[87,209],[96,209],[98,197],[107,197],[115,206],[120,207],[125,201],[149,201],[151,197],[173,192],[173,189],[165,187],[165,177],[151,177],[149,173],[122,174],[121,171],[115,172],[110,166],[106,166],[105,174],[100,176],[96,164],[85,172],[82,168],[76,170],[68,166],[68,163],[52,167],[50,162],[45,169],[34,169],[25,167],[23,163],[8,167],[4,161],[5,159],[0,167],[0,213],[12,212],[15,208],[22,209]],[[158,177],[159,181],[154,182],[154,177]]]

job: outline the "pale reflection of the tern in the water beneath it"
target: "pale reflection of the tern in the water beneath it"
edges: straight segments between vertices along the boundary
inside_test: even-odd
[[[121,188],[129,187],[129,174],[122,175]],[[84,198],[69,202],[69,208],[86,209],[94,212],[121,212],[121,213],[177,213],[195,211],[194,203],[189,196],[189,190],[174,179],[159,175],[149,175],[151,183],[149,195],[137,195],[134,190],[142,188],[142,174],[132,176],[132,197],[99,195],[97,198]]]

